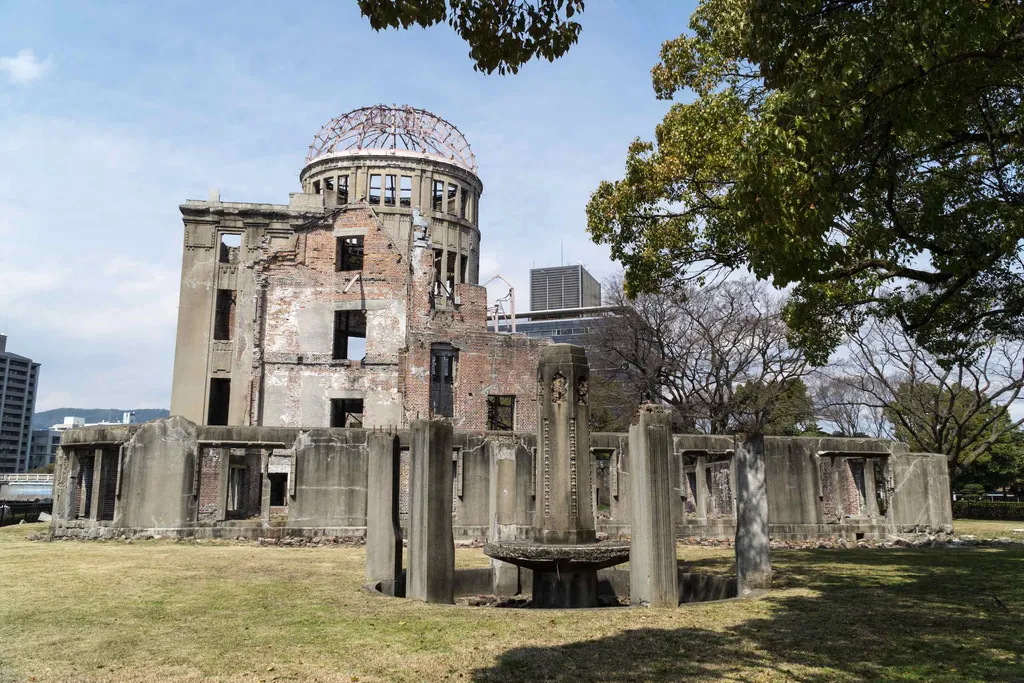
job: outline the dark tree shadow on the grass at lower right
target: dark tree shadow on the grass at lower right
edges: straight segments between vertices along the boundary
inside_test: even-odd
[[[769,617],[521,647],[475,681],[1024,681],[1024,552],[783,551]]]

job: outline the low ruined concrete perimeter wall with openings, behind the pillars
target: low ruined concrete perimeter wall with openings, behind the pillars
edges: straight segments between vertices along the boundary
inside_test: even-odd
[[[57,454],[55,537],[361,537],[369,449],[364,429],[199,426],[181,417],[63,433]],[[401,515],[409,501],[409,433]],[[516,524],[532,524],[536,434],[457,431],[452,454],[456,538],[486,540],[500,459],[515,460]],[[732,538],[731,436],[678,434],[673,522],[681,538]],[[628,537],[626,434],[591,435],[598,529]],[[945,458],[884,439],[766,437],[769,521],[776,539],[877,539],[951,530]]]

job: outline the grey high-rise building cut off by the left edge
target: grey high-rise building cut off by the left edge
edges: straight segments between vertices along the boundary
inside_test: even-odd
[[[39,364],[7,351],[0,335],[0,473],[28,469],[38,382]]]

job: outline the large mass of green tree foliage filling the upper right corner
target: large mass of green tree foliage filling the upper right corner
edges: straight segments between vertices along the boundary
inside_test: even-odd
[[[653,69],[684,92],[589,229],[630,294],[750,268],[823,364],[867,317],[965,358],[1024,336],[1024,3],[702,0]]]

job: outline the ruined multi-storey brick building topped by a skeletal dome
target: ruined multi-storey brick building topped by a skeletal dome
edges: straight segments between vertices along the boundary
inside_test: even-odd
[[[171,414],[198,424],[531,430],[538,340],[486,329],[476,161],[372,106],[314,137],[288,204],[181,205]]]

